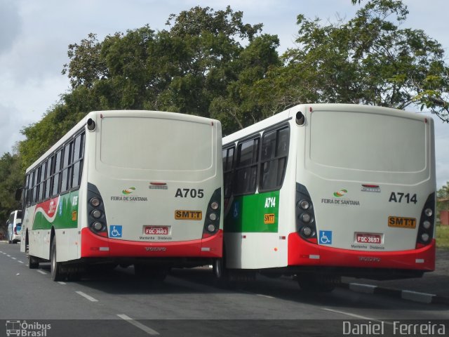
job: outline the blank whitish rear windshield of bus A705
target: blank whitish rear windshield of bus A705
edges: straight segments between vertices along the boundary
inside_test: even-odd
[[[213,128],[176,119],[104,118],[100,158],[127,169],[206,170],[213,164]]]

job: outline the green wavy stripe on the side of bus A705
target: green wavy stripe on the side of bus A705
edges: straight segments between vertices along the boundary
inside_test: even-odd
[[[36,206],[36,209],[39,206]],[[78,191],[61,195],[53,221],[48,221],[42,211],[34,216],[33,230],[66,229],[78,227]]]

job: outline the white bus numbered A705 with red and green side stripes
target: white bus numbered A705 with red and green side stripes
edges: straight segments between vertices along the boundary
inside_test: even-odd
[[[90,112],[26,171],[20,249],[53,280],[86,265],[171,266],[222,257],[221,124],[154,111]]]

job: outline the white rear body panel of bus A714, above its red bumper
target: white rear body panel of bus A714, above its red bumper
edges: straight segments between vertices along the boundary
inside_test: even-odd
[[[415,249],[421,211],[436,188],[433,120],[376,107],[311,107],[297,177],[314,203],[317,232],[332,233],[326,246]],[[415,227],[389,227],[390,216],[415,219]],[[357,242],[356,233],[379,234],[382,243]]]

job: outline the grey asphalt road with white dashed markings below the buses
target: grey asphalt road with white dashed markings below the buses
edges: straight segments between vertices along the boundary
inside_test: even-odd
[[[4,242],[0,266],[0,336],[15,333],[18,324],[27,336],[45,337],[438,336],[439,324],[446,335],[449,329],[445,305],[349,289],[304,293],[286,278],[258,277],[224,289],[208,268],[173,270],[158,283],[137,279],[133,267],[117,267],[79,282],[52,282],[48,264],[30,270],[19,245]],[[433,334],[414,333],[415,324]]]

